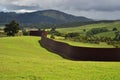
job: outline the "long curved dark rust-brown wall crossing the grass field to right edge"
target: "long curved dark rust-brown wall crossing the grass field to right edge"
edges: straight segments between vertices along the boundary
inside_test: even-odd
[[[70,46],[42,37],[41,45],[64,58],[83,61],[120,61],[120,48],[86,48]]]

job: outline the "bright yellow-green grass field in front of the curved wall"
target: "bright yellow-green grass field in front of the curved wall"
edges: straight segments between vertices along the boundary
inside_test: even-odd
[[[119,62],[66,60],[42,48],[39,39],[0,38],[0,80],[120,79]]]

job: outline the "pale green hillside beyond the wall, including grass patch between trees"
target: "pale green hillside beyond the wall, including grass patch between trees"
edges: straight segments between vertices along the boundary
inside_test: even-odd
[[[112,22],[112,23],[99,23],[99,24],[88,24],[85,26],[78,26],[78,27],[72,27],[72,28],[58,28],[57,31],[61,33],[71,33],[71,32],[79,32],[82,33],[81,35],[84,35],[85,32],[83,31],[84,29],[87,31],[91,30],[92,28],[102,28],[106,27],[109,32],[104,32],[104,33],[98,33],[95,36],[104,36],[104,37],[115,37],[114,32],[112,31],[113,28],[117,28],[120,30],[120,21],[117,22]]]

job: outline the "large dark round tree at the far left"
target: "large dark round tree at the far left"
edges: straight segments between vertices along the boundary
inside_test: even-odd
[[[15,36],[15,34],[19,32],[19,24],[15,20],[11,21],[5,25],[4,32],[7,33],[8,36]]]

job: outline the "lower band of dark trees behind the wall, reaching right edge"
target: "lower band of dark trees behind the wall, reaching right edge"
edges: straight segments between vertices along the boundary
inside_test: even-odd
[[[84,43],[94,43],[94,44],[99,44],[100,42],[106,42],[108,45],[120,47],[120,32],[117,31],[115,32],[115,34],[116,36],[114,38],[111,38],[111,37],[97,37],[94,35],[83,36],[80,33],[68,33],[65,35],[65,39],[69,39],[77,42],[84,42]]]

